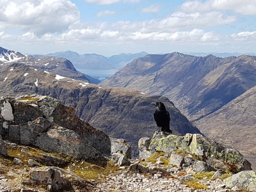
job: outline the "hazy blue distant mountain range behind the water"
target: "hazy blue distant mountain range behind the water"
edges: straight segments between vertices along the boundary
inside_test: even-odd
[[[145,56],[147,54],[147,52],[139,52],[135,54],[122,53],[108,58],[99,54],[78,54],[77,52],[73,51],[65,51],[47,54],[47,56],[67,58],[74,64],[76,68],[106,70],[112,68],[122,68],[135,58]]]

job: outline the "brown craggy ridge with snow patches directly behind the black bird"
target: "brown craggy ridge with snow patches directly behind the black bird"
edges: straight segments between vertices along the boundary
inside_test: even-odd
[[[74,106],[79,118],[113,138],[124,138],[136,151],[138,140],[152,136],[158,128],[151,102],[164,102],[175,134],[200,133],[166,97],[145,95],[124,88],[105,88],[87,81],[61,77],[24,63],[0,66],[1,97],[37,93]],[[135,152],[138,155],[138,151]]]

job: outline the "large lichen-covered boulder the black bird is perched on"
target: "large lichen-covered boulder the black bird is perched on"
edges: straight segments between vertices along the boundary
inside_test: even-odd
[[[234,173],[243,170],[252,170],[251,164],[244,159],[243,155],[238,150],[214,140],[209,140],[209,138],[201,134],[177,136],[174,134],[155,132],[150,141],[150,145],[148,148],[145,148],[145,150],[147,150],[146,152],[149,151],[151,154],[155,152],[175,154],[177,150],[183,151],[184,154],[195,157],[195,163],[198,161],[207,163],[204,166],[205,171],[209,170],[209,168],[216,170],[223,169]],[[142,154],[143,153],[145,152],[142,152]],[[195,167],[197,166],[195,165]]]

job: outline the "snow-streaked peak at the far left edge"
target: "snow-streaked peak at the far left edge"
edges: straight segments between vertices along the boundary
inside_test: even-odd
[[[25,54],[22,54],[17,51],[11,51],[8,49],[4,49],[3,47],[0,47],[0,62],[1,63],[10,63],[13,61],[18,61],[22,58],[26,58]]]

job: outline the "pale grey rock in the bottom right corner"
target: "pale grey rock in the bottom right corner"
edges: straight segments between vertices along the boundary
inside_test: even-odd
[[[227,188],[239,188],[244,190],[256,190],[256,172],[243,171],[224,179]]]

